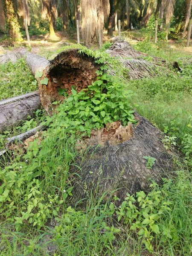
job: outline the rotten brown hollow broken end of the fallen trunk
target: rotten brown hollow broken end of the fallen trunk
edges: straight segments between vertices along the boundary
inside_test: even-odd
[[[96,70],[100,67],[95,63],[96,59],[78,51],[61,52],[44,71],[42,78],[47,77],[48,84],[39,83],[39,92],[45,109],[52,101],[64,99],[64,95],[59,93],[62,90],[70,94],[74,87],[79,92],[96,80]]]

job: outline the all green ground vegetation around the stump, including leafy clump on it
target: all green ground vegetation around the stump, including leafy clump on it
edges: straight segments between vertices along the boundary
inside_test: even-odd
[[[88,90],[77,93],[73,88],[62,104],[53,102],[52,116],[37,111],[32,121],[0,135],[3,148],[6,137],[40,123],[47,127],[27,148],[18,142],[0,158],[0,255],[192,255],[192,65],[164,42],[154,46],[143,41],[136,48],[165,58],[169,72],[124,81],[117,71],[115,77],[105,73],[104,65]],[[105,60],[103,52],[94,54]],[[172,61],[178,61],[182,73],[172,68]],[[116,70],[123,72],[120,66]],[[0,72],[1,99],[36,90],[23,59],[0,65]],[[68,96],[65,90],[59,93]],[[134,124],[135,110],[165,134],[165,151],[177,152],[175,170],[160,185],[151,180],[148,194],[127,193],[119,202],[113,191],[106,202],[105,194],[98,198],[93,193],[83,207],[82,202],[73,204],[71,183],[79,174],[70,167],[84,154],[78,150],[81,137],[119,119],[123,125]],[[155,159],[145,159],[153,168]]]

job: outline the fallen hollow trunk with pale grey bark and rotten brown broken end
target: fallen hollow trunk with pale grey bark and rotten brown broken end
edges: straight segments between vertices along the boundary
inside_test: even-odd
[[[79,49],[61,52],[52,61],[26,49],[19,49],[17,53],[26,58],[26,64],[33,75],[37,71],[43,72],[37,80],[41,103],[46,111],[49,111],[51,102],[64,99],[58,93],[59,88],[67,90],[68,94],[71,93],[72,86],[76,87],[77,92],[87,88],[96,80],[96,70],[100,67],[94,62],[94,58],[79,53]],[[48,79],[47,85],[41,84],[44,78]]]

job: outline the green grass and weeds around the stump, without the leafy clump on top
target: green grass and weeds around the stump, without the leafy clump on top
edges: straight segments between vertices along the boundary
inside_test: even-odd
[[[164,48],[148,51],[166,55]],[[168,52],[166,59],[178,56],[174,54]],[[67,130],[62,111],[47,117],[49,129],[40,144],[35,140],[24,152],[4,155],[0,255],[192,255],[191,75],[188,66],[182,74],[170,71],[126,84],[134,93],[131,103],[139,105],[137,112],[165,132],[165,146],[176,145],[180,159],[173,158],[175,175],[162,186],[152,182],[148,195],[128,195],[121,207],[115,197],[104,203],[94,194],[82,208],[71,203],[71,181],[77,174],[69,169],[80,154],[76,143],[81,135]]]

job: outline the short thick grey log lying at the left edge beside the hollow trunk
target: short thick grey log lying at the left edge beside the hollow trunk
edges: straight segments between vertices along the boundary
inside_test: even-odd
[[[39,108],[41,101],[37,92],[0,101],[0,134],[32,116]]]

